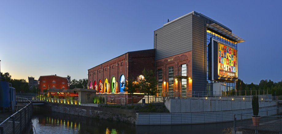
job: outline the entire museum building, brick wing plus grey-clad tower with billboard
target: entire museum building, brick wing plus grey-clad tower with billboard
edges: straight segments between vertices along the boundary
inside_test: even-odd
[[[244,41],[223,24],[192,11],[155,30],[154,49],[135,51],[136,58],[130,57],[132,52],[128,52],[89,69],[89,86],[101,93],[119,93],[122,80],[129,76],[136,78],[146,67],[155,71],[157,96],[185,97],[235,91],[237,44]],[[146,51],[150,51],[151,56],[142,54]],[[149,57],[143,57],[145,55]],[[112,90],[113,87],[116,90]]]

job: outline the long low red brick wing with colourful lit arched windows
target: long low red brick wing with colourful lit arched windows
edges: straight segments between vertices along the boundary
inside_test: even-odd
[[[133,51],[109,60],[105,63],[97,65],[88,70],[88,86],[94,89],[94,82],[96,81],[96,90],[98,91],[99,80],[103,84],[103,90],[105,92],[105,80],[107,83],[107,92],[112,91],[112,79],[116,79],[115,93],[120,92],[120,76],[124,75],[125,79],[129,77],[137,79],[142,74],[143,69],[155,71],[155,50],[141,50]],[[91,85],[90,85],[91,82]],[[110,83],[110,84],[109,84]]]

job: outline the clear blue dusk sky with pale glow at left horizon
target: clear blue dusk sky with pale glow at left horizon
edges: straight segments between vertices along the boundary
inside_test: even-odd
[[[13,79],[87,78],[128,51],[154,48],[154,30],[193,10],[227,26],[245,83],[282,80],[282,1],[1,1],[1,72]]]

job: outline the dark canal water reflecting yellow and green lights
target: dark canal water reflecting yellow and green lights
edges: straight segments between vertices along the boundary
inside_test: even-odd
[[[33,133],[63,134],[170,134],[170,133],[209,133],[230,134],[233,122],[196,125],[132,125],[119,121],[109,121],[70,114],[34,112]]]

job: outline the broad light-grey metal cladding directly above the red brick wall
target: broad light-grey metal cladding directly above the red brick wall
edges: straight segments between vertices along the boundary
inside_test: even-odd
[[[154,31],[156,60],[192,51],[192,37],[192,14]]]

